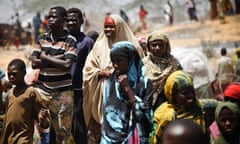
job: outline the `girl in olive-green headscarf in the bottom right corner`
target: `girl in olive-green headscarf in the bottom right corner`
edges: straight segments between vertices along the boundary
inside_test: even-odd
[[[221,102],[215,111],[215,125],[211,125],[211,144],[240,143],[240,109],[231,102]]]

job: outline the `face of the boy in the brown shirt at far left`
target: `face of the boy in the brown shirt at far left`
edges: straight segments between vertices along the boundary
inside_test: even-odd
[[[8,79],[10,83],[17,85],[24,82],[25,73],[15,65],[9,66],[7,71],[8,71]]]

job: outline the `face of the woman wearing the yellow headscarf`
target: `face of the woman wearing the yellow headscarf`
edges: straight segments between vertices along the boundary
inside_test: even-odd
[[[176,103],[189,108],[195,103],[195,91],[193,86],[181,89],[176,95]]]

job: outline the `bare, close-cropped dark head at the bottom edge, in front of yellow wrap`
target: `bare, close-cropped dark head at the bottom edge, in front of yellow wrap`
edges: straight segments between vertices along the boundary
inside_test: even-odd
[[[163,144],[204,144],[204,132],[189,119],[178,119],[169,123],[163,132]]]

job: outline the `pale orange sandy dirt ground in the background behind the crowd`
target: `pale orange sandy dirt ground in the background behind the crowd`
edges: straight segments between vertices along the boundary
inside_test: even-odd
[[[202,47],[202,42],[215,43],[214,48],[227,46],[231,56],[234,49],[233,44],[240,46],[240,15],[226,17],[226,23],[220,24],[218,20],[204,22],[185,22],[169,27],[159,28],[160,31],[169,36],[172,48],[178,47]],[[150,32],[149,30],[148,32]],[[137,35],[148,35],[138,33]],[[0,67],[6,71],[7,64],[13,58],[22,58],[28,63],[26,54],[32,48],[31,45],[22,45],[19,50],[10,46],[10,50],[0,47]],[[26,52],[27,51],[27,52]],[[215,67],[216,59],[219,57],[219,51],[209,58],[209,63]]]

